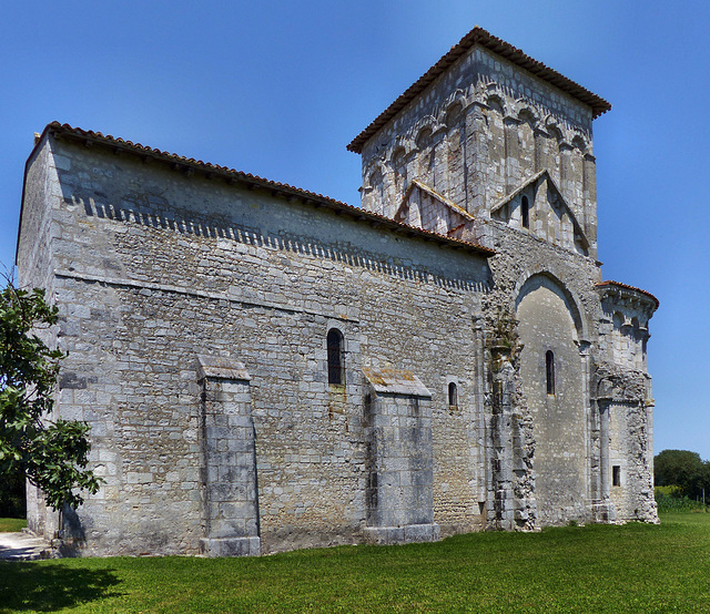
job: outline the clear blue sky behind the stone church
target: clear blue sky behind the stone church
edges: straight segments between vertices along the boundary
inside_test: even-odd
[[[346,144],[478,24],[611,102],[595,122],[602,274],[661,301],[656,453],[710,459],[709,22],[682,0],[7,3],[0,262],[53,120],[359,204]]]

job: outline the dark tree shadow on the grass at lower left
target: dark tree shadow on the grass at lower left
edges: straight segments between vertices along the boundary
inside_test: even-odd
[[[0,561],[0,614],[54,612],[119,596],[113,570],[81,570],[34,562]]]

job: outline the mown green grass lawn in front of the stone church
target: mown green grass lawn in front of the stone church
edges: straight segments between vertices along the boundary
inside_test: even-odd
[[[710,612],[710,514],[661,520],[258,559],[2,563],[0,612]]]

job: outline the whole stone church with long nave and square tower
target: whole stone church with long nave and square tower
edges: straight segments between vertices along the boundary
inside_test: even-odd
[[[609,103],[475,28],[361,132],[362,206],[49,124],[17,265],[101,490],[83,555],[657,522],[649,293],[602,280]]]

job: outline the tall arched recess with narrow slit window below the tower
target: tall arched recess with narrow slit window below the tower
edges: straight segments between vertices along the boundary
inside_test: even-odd
[[[587,376],[579,350],[582,318],[558,279],[537,274],[520,288],[516,319],[523,345],[520,380],[536,441],[538,518],[545,525],[581,520],[589,500]]]

